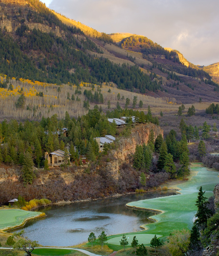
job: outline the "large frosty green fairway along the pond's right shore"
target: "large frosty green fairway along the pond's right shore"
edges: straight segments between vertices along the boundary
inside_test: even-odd
[[[143,244],[150,244],[151,236],[155,234],[158,237],[166,237],[173,230],[188,228],[193,225],[193,217],[196,214],[197,207],[195,206],[198,191],[202,186],[205,191],[205,196],[213,195],[214,186],[219,183],[218,172],[208,171],[201,167],[200,164],[193,165],[191,168],[195,175],[188,181],[178,185],[180,194],[146,199],[127,204],[127,207],[140,208],[145,210],[155,210],[160,214],[154,215],[154,223],[141,226],[144,231],[137,233],[126,234],[128,236],[136,236]],[[132,236],[132,237],[133,237]],[[110,236],[108,244],[120,245],[122,235]],[[131,241],[128,245],[131,245]]]

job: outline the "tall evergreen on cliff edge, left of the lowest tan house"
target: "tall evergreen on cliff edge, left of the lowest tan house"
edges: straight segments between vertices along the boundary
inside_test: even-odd
[[[24,154],[24,164],[22,166],[22,180],[25,185],[32,184],[34,179],[34,162],[29,152]]]

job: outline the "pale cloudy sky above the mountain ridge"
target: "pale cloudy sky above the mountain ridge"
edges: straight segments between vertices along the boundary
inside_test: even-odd
[[[196,65],[219,62],[218,0],[41,0],[97,31],[144,35]]]

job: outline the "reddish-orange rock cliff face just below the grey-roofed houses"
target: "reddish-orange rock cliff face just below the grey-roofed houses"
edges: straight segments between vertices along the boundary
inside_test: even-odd
[[[151,129],[154,131],[154,139],[156,139],[159,134],[164,135],[164,131],[155,124],[136,125],[128,138],[121,138],[119,140],[119,148],[113,151],[114,157],[118,158],[119,162],[126,161],[129,155],[135,153],[136,145],[147,144]]]

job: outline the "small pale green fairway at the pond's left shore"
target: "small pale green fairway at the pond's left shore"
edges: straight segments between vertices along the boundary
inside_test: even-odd
[[[21,225],[25,219],[37,217],[41,212],[20,209],[0,210],[0,229]]]

